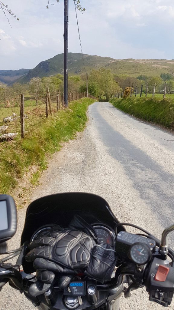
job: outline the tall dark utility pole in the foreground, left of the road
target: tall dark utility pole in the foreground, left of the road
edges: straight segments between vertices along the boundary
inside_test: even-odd
[[[68,0],[64,0],[64,105],[68,106]]]

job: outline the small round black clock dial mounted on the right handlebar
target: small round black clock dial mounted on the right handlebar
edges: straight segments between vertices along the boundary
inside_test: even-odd
[[[133,262],[138,265],[146,264],[150,260],[152,255],[149,246],[141,242],[134,243],[131,246],[129,254]]]

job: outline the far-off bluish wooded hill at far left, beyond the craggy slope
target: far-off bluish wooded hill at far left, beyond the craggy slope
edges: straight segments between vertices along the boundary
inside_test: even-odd
[[[29,69],[19,70],[0,70],[0,82],[11,84],[16,82],[20,77],[27,74]]]

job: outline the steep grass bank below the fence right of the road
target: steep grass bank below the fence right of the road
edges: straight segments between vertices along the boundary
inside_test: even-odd
[[[165,98],[112,98],[110,102],[118,109],[142,120],[171,127],[174,122],[174,99]]]

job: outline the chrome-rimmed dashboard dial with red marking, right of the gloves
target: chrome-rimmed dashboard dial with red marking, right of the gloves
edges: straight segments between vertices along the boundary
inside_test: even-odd
[[[99,242],[108,243],[111,246],[115,246],[115,233],[112,232],[111,229],[100,225],[93,226],[93,228]]]

